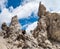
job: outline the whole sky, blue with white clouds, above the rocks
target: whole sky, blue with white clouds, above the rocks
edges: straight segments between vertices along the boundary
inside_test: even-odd
[[[60,13],[60,0],[0,0],[0,25],[9,24],[14,15],[18,16],[22,29],[29,30],[37,26],[39,2],[45,5],[47,11]],[[36,25],[35,25],[36,24]]]

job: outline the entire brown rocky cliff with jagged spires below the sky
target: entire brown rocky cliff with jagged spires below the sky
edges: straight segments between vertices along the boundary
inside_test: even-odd
[[[9,26],[4,22],[0,32],[0,49],[60,49],[60,15],[46,11],[39,4],[38,25],[27,35],[20,29],[17,16],[12,17]]]

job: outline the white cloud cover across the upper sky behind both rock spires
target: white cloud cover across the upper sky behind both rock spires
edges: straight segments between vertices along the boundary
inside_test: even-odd
[[[0,13],[0,24],[3,22],[9,23],[14,15],[17,15],[18,19],[20,19],[30,16],[32,12],[37,14],[40,1],[42,1],[43,4],[47,7],[47,10],[49,10],[49,8],[52,8],[53,10],[57,11],[60,8],[60,0],[24,0],[24,2],[22,2],[22,5],[18,6],[15,9],[13,6],[11,6],[9,10],[5,7],[5,3],[8,1],[0,0],[0,8],[2,9],[2,12]]]

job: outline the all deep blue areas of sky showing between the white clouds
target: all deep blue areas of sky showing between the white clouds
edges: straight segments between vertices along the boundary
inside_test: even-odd
[[[24,0],[8,0],[8,3],[6,5],[6,8],[9,8],[11,6],[13,6],[13,8],[17,8],[18,6],[22,5],[22,2]],[[38,16],[34,14],[34,12],[32,11],[31,15],[29,16],[29,18],[21,18],[19,19],[19,22],[22,26],[26,25],[26,24],[30,24],[30,23],[34,23],[35,21],[38,20]],[[26,29],[26,27],[22,28],[22,29]]]

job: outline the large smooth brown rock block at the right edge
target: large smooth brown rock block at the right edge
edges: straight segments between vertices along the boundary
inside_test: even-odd
[[[60,41],[60,15],[52,13],[49,21],[50,24],[47,31],[50,33],[50,37],[56,41]]]

